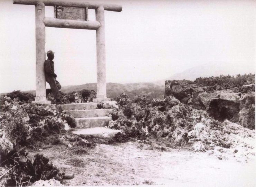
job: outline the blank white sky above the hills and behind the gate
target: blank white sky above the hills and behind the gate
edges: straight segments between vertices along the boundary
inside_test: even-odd
[[[105,11],[107,82],[161,80],[208,63],[255,72],[256,1],[101,2],[123,6]],[[0,25],[1,92],[35,89],[35,6],[1,0]],[[46,28],[45,49],[55,52],[62,86],[96,82],[95,31]]]

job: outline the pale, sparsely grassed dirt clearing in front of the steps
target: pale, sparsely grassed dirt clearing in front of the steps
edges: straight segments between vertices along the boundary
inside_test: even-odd
[[[239,163],[219,160],[206,153],[143,150],[137,142],[98,144],[88,154],[74,155],[64,146],[42,153],[61,171],[75,173],[67,186],[83,185],[176,185],[256,186],[255,159]]]

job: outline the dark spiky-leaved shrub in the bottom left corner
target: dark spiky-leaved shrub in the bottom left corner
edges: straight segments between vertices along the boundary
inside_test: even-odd
[[[73,176],[60,173],[53,164],[49,164],[49,159],[41,154],[35,156],[25,152],[24,149],[17,148],[7,152],[0,150],[1,167],[8,170],[1,176],[5,186],[31,186],[37,180],[56,179],[61,183],[64,179],[72,179]]]

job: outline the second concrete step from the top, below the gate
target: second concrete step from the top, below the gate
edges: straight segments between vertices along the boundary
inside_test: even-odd
[[[93,110],[66,110],[66,114],[72,115],[74,118],[91,118],[102,117],[108,115],[112,109],[93,109]]]

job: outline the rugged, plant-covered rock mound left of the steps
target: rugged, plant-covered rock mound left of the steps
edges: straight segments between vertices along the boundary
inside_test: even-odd
[[[12,150],[15,144],[31,144],[51,133],[58,134],[74,127],[74,118],[62,113],[59,106],[22,104],[19,99],[3,99],[0,117],[0,145],[3,150]]]

